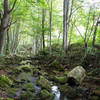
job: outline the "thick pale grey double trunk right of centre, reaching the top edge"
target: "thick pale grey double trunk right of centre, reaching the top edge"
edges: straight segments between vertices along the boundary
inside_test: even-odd
[[[63,48],[64,51],[68,48],[68,12],[69,12],[69,0],[63,2]]]

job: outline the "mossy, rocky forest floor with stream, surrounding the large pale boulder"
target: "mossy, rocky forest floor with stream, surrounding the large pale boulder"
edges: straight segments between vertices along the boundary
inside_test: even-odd
[[[52,56],[45,50],[0,58],[0,100],[100,100],[100,50],[89,49],[86,57],[83,51],[74,44],[67,55],[53,47]],[[69,86],[67,74],[76,66],[83,66],[86,77]]]

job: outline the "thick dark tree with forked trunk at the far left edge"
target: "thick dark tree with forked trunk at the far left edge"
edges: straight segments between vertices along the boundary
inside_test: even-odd
[[[9,0],[4,0],[4,5],[3,5],[4,12],[3,12],[3,17],[1,18],[1,25],[0,25],[0,54],[2,53],[2,48],[4,45],[5,32],[9,26],[10,14],[15,7],[16,1],[17,0],[14,1],[12,8],[9,9]]]

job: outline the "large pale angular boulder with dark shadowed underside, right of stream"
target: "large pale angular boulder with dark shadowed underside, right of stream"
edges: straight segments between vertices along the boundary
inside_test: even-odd
[[[67,77],[69,85],[79,85],[86,77],[86,71],[82,66],[77,66],[68,73]]]

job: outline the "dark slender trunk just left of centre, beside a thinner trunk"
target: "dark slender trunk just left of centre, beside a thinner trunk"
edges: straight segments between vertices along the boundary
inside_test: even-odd
[[[45,23],[45,9],[42,9],[42,45],[45,48],[45,36],[44,36],[44,23]]]

